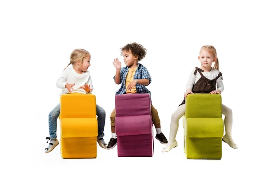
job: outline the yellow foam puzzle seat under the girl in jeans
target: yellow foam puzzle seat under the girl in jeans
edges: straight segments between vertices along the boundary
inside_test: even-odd
[[[60,103],[61,157],[96,158],[96,97],[93,94],[64,94]]]

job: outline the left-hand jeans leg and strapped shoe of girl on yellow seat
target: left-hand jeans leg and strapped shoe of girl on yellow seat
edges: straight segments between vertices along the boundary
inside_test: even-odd
[[[49,113],[49,134],[50,134],[50,137],[47,137],[46,139],[49,139],[49,140],[51,139],[51,140],[50,140],[50,143],[49,143],[48,147],[45,148],[45,153],[51,152],[55,148],[55,146],[57,146],[59,144],[59,142],[57,140],[56,131],[57,131],[57,119],[58,119],[58,116],[60,115],[60,110],[61,110],[61,105],[58,104]],[[49,142],[49,140],[47,141],[47,143]]]

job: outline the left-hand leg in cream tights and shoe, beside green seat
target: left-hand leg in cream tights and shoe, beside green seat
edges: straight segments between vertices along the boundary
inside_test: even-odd
[[[177,108],[177,110],[174,113],[172,113],[169,142],[166,145],[166,147],[162,150],[162,152],[168,152],[169,150],[171,150],[172,148],[178,145],[175,140],[175,137],[179,127],[179,120],[185,114],[185,108],[186,108],[186,105],[180,105]]]

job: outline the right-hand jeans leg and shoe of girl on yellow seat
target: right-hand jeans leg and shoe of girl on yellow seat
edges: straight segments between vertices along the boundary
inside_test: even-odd
[[[97,142],[100,147],[105,149],[107,148],[107,144],[105,143],[103,136],[104,136],[106,112],[102,107],[100,107],[99,105],[96,105],[96,115],[97,115],[97,121],[98,121]]]

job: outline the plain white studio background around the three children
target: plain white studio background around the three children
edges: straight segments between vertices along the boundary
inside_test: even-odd
[[[224,169],[251,166],[255,154],[255,47],[253,1],[1,1],[1,166],[36,169]],[[223,74],[222,102],[233,110],[233,139],[223,142],[221,160],[189,160],[178,147],[154,156],[119,158],[117,147],[98,146],[96,159],[62,159],[60,145],[45,154],[48,114],[59,102],[55,85],[75,48],[91,54],[89,71],[97,104],[106,111],[105,142],[111,138],[115,92],[112,61],[120,48],[137,42],[148,49],[141,61],[151,74],[148,86],[162,131],[169,138],[172,113],[183,100],[186,82],[202,45],[214,45]],[[224,117],[223,117],[224,118]],[[154,134],[156,134],[154,129]],[[59,127],[57,130],[59,137]],[[254,165],[255,167],[255,165]]]

